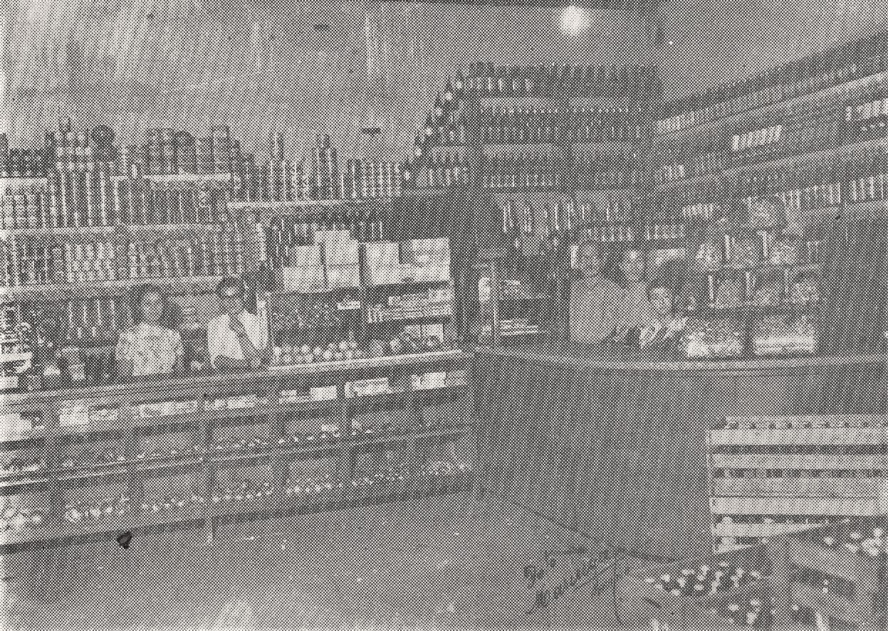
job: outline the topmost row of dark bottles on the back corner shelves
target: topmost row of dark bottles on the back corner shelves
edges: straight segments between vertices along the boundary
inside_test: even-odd
[[[472,64],[455,82],[457,93],[503,97],[611,96],[627,92],[653,97],[660,90],[656,67],[495,67]]]

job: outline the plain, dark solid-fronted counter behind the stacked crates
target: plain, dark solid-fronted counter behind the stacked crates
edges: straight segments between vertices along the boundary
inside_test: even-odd
[[[608,361],[569,345],[478,348],[482,484],[599,550],[698,558],[715,543],[708,432],[729,417],[884,414],[885,360]]]

